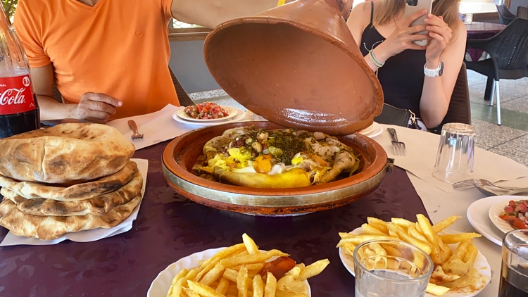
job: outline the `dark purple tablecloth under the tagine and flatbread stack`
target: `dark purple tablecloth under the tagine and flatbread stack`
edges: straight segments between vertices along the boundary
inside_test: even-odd
[[[161,172],[168,142],[137,151],[149,159],[146,193],[132,230],[100,241],[0,247],[0,296],[146,296],[161,270],[179,258],[241,242],[246,232],[263,249],[279,248],[298,263],[328,258],[309,279],[312,296],[353,296],[354,278],[339,260],[338,232],[367,216],[415,220],[425,208],[400,168],[354,203],[294,217],[258,217],[201,206],[175,194]],[[0,227],[0,238],[7,230]]]

